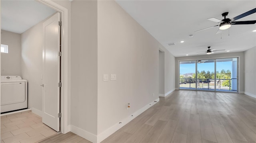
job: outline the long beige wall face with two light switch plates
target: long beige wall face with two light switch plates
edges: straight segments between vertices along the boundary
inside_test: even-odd
[[[158,98],[160,47],[115,1],[98,1],[98,134]]]

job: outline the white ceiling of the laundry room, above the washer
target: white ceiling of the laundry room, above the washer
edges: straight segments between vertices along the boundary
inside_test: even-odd
[[[1,29],[23,33],[55,12],[34,0],[1,0]]]

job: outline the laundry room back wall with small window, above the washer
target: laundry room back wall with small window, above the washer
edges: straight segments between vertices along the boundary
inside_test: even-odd
[[[8,53],[1,53],[1,75],[21,76],[21,35],[5,30],[1,33],[1,44],[8,45]]]

